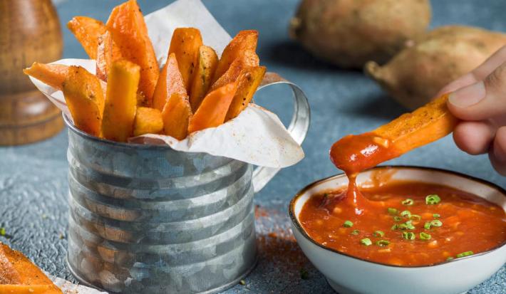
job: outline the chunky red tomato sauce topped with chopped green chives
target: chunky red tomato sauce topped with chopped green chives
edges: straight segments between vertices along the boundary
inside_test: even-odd
[[[504,209],[465,191],[389,182],[361,188],[361,194],[369,203],[361,207],[362,214],[356,214],[353,202],[345,201],[346,189],[340,189],[311,196],[299,221],[317,243],[397,266],[428,266],[488,251],[506,241]],[[427,204],[428,195],[432,204]]]

